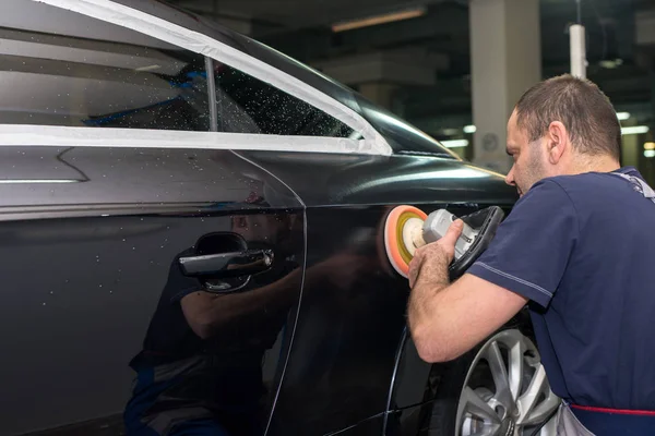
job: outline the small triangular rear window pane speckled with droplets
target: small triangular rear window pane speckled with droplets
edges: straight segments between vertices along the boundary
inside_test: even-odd
[[[218,130],[234,133],[347,137],[353,129],[265,82],[214,62]]]

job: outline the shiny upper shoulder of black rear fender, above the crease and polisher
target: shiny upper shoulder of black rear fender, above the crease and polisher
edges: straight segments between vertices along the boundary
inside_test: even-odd
[[[288,184],[308,207],[511,205],[515,190],[492,172],[427,156],[239,152]]]

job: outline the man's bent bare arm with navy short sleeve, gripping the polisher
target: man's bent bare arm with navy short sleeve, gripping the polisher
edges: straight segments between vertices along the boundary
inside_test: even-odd
[[[458,358],[532,300],[547,306],[577,241],[577,215],[555,182],[535,184],[499,227],[487,251],[454,283],[448,267],[460,220],[409,264],[408,325],[421,359]]]

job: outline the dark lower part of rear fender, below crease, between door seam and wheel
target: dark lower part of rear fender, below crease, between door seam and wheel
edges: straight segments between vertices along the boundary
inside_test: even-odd
[[[335,432],[385,410],[407,292],[381,267],[383,213],[308,210],[305,287],[273,434]]]

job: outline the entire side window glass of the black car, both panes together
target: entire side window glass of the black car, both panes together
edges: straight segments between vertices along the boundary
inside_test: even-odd
[[[8,4],[0,14],[0,124],[212,130],[202,55],[64,9],[2,1]],[[219,132],[354,133],[265,81],[211,64]]]

